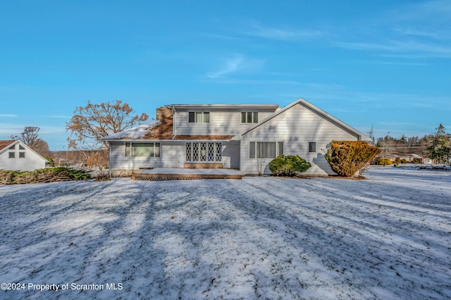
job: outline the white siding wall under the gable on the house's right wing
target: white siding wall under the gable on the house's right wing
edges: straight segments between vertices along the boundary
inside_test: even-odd
[[[324,158],[334,139],[356,141],[357,137],[297,104],[242,137],[240,169],[245,174],[258,174],[259,170],[271,174],[271,159],[249,158],[249,142],[283,142],[285,155],[299,155],[311,163],[306,174],[334,174]],[[309,142],[316,142],[315,153],[309,153]]]

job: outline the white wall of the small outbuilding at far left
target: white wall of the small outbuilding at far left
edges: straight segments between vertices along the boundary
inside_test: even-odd
[[[24,146],[24,148],[25,150],[20,150],[19,144],[15,144],[14,150],[4,150],[0,154],[0,170],[32,171],[45,168],[46,160],[44,158],[36,154],[35,151],[32,151],[27,146]],[[9,152],[15,152],[15,158],[9,158]],[[25,158],[20,158],[19,152],[24,152]]]

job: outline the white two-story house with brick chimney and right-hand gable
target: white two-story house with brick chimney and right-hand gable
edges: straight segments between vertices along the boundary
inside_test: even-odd
[[[323,155],[332,140],[371,139],[325,111],[298,99],[278,105],[172,104],[156,121],[101,140],[109,144],[111,170],[236,168],[271,174],[280,154],[312,164],[306,174],[334,174]]]

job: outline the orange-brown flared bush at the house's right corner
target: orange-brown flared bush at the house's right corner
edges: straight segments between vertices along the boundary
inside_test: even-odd
[[[330,168],[340,176],[354,176],[381,149],[362,141],[332,141],[326,154]]]

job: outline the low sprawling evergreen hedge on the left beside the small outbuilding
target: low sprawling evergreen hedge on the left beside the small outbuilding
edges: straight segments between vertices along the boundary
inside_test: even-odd
[[[86,170],[66,167],[44,168],[34,171],[0,170],[0,184],[4,185],[88,179],[91,179],[91,175]]]

